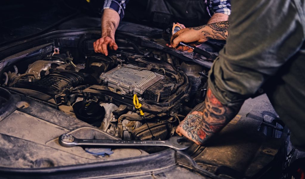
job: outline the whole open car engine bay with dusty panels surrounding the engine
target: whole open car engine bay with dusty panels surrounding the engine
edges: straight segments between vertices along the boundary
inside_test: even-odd
[[[100,151],[58,143],[65,133],[79,139],[167,140],[204,101],[214,59],[169,49],[155,36],[161,31],[149,27],[121,23],[118,31],[119,49],[108,56],[94,53],[92,43],[100,30],[92,29],[51,32],[2,55],[0,167],[63,167],[174,155],[165,147],[111,147],[98,155]],[[212,42],[203,48],[217,56],[223,45]],[[194,144],[185,153],[215,176],[255,178],[285,155],[286,134],[263,95],[246,101],[211,144]]]

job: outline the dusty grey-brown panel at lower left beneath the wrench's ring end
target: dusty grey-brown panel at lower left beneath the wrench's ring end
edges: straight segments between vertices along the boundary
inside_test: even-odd
[[[25,99],[23,99],[25,100]],[[117,160],[147,155],[139,149],[112,149],[96,156],[82,147],[62,147],[58,137],[71,133],[80,139],[116,139],[100,129],[33,100],[0,121],[0,166],[39,168]]]

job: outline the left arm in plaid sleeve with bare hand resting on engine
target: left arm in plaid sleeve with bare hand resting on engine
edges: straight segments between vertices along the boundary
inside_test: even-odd
[[[102,37],[93,43],[94,51],[108,55],[108,47],[117,50],[118,46],[114,40],[114,34],[119,26],[120,19],[124,17],[124,10],[127,1],[105,0],[104,12],[101,19]]]

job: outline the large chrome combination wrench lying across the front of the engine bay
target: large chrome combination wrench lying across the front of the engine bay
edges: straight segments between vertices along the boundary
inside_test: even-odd
[[[175,150],[187,149],[190,145],[185,137],[173,136],[168,140],[104,140],[104,139],[77,139],[73,135],[63,134],[59,136],[59,144],[64,147],[74,146],[164,146]],[[182,143],[179,143],[182,142]]]

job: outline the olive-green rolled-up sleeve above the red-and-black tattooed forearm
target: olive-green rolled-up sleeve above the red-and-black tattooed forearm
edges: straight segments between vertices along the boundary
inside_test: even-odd
[[[227,43],[209,72],[223,104],[251,97],[304,40],[300,15],[289,0],[232,0]]]

